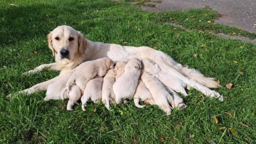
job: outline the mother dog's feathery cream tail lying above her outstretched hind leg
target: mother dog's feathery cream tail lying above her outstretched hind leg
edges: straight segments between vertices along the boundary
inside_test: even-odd
[[[200,73],[199,71],[193,68],[188,68],[187,66],[185,66],[185,67],[179,68],[179,71],[186,77],[196,80],[197,82],[201,83],[206,87],[210,87],[210,88],[221,87],[220,84],[215,81],[215,78],[206,77],[202,73]]]

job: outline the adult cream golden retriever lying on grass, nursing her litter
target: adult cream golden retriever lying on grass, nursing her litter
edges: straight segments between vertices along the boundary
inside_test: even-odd
[[[52,50],[53,56],[55,56],[55,63],[40,65],[27,73],[36,73],[45,68],[51,68],[52,70],[61,71],[60,76],[34,85],[33,87],[22,90],[19,93],[27,93],[30,95],[34,92],[45,91],[49,85],[63,78],[66,71],[70,71],[84,61],[109,57],[116,63],[117,61],[128,61],[133,58],[147,58],[158,64],[168,75],[183,80],[187,85],[194,87],[207,96],[218,97],[220,100],[223,99],[222,95],[218,92],[208,88],[220,86],[216,81],[214,81],[214,78],[205,77],[195,69],[183,67],[164,52],[154,50],[150,47],[131,47],[102,42],[92,42],[85,39],[79,31],[76,31],[70,26],[58,26],[50,32],[48,34],[48,44]],[[10,96],[11,95],[8,95],[7,97]],[[59,95],[53,99],[61,99],[61,97]]]

